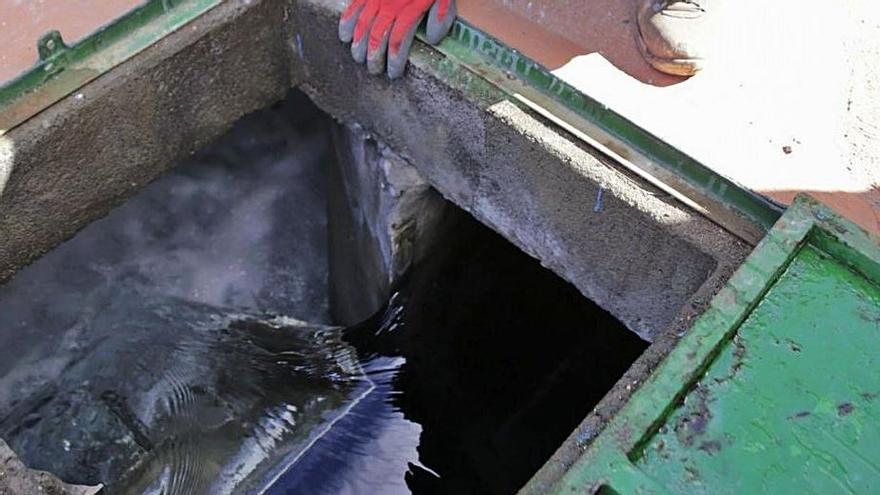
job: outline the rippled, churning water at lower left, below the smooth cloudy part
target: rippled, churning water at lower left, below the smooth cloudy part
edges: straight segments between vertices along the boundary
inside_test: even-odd
[[[338,329],[121,289],[90,342],[0,428],[19,455],[110,493],[243,493],[363,393]]]

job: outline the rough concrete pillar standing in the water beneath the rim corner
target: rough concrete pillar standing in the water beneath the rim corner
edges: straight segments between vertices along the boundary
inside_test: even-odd
[[[332,130],[328,171],[330,310],[355,325],[382,309],[413,264],[433,250],[449,202],[408,162],[359,126]]]

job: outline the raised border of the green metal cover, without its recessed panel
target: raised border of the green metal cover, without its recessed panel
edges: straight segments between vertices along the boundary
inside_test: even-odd
[[[808,245],[880,285],[880,239],[809,196],[798,196],[710,308],[551,493],[667,493],[636,467],[635,460],[799,251]]]

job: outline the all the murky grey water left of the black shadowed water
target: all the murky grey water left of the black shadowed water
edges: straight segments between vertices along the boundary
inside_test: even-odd
[[[320,325],[318,117],[294,97],[246,118],[0,287],[0,437],[26,463],[110,493],[224,493],[367,390]]]

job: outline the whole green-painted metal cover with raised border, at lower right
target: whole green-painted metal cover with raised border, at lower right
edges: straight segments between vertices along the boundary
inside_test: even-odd
[[[554,493],[880,493],[880,241],[799,197]]]

